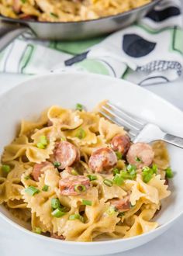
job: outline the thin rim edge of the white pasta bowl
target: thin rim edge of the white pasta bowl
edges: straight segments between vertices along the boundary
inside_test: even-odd
[[[84,75],[84,76],[91,76],[91,78],[93,76],[95,76],[95,78],[101,78],[101,79],[109,79],[111,81],[113,81],[113,85],[115,85],[115,81],[118,80],[118,81],[121,81],[123,84],[123,86],[130,86],[132,89],[133,88],[136,88],[136,84],[130,82],[130,81],[126,81],[122,78],[113,78],[113,77],[109,77],[109,76],[106,76],[106,75],[103,75],[103,74],[93,74],[93,73],[84,73],[84,72],[81,72],[81,71],[77,71],[77,72],[74,72],[74,71],[64,71],[63,73],[50,73],[50,74],[39,74],[39,75],[36,75],[34,76],[33,78],[28,78],[26,79],[25,81],[22,81],[20,82],[18,85],[10,88],[8,91],[2,93],[0,95],[0,102],[1,100],[6,96],[6,95],[9,95],[9,93],[13,93],[13,92],[17,92],[17,88],[21,88],[22,86],[28,86],[26,85],[26,83],[28,82],[33,82],[33,81],[37,81],[39,79],[47,79],[47,78],[50,78],[50,77],[61,77],[63,75],[69,75],[69,76],[80,76],[80,75]],[[85,85],[86,86],[86,85]],[[183,118],[183,112],[181,111],[181,109],[178,109],[178,107],[174,106],[171,104],[171,102],[168,102],[166,99],[163,99],[161,98],[161,96],[159,95],[156,95],[154,92],[150,92],[148,91],[147,89],[143,88],[143,87],[140,87],[138,86],[137,90],[141,90],[142,92],[146,92],[147,94],[149,95],[153,95],[155,98],[157,98],[158,100],[161,100],[161,102],[164,102],[164,104],[167,104],[167,106],[169,106],[171,109],[174,109],[174,111],[176,112],[179,112]],[[1,106],[1,103],[0,103],[0,106]],[[2,206],[3,207],[3,206]],[[3,214],[1,211],[0,211],[0,217],[2,217],[3,220],[7,221],[8,223],[12,224],[13,227],[16,227],[18,228],[19,230],[22,230],[22,232],[25,232],[26,234],[30,234],[30,235],[33,235],[35,237],[39,237],[40,239],[43,239],[43,240],[51,240],[51,241],[54,241],[54,243],[64,243],[64,244],[74,244],[74,245],[78,245],[78,246],[88,246],[88,245],[97,245],[97,244],[116,244],[116,243],[121,243],[123,241],[129,241],[129,240],[138,240],[140,239],[141,237],[146,237],[150,234],[156,234],[156,233],[159,233],[160,230],[164,230],[166,229],[166,227],[168,226],[171,226],[172,223],[174,223],[175,220],[178,220],[178,218],[183,215],[183,211],[181,211],[178,216],[175,216],[174,218],[172,218],[171,220],[167,221],[167,223],[164,223],[163,225],[157,227],[155,230],[150,230],[150,232],[147,232],[147,233],[144,233],[144,234],[140,234],[140,235],[137,235],[135,237],[129,237],[129,238],[117,238],[117,239],[111,239],[111,240],[99,240],[99,241],[91,241],[91,242],[77,242],[77,241],[68,241],[68,240],[58,240],[58,239],[55,239],[55,238],[52,238],[52,237],[46,237],[46,236],[43,236],[43,235],[40,235],[40,234],[36,234],[36,233],[33,233],[31,230],[28,230],[26,229],[25,227],[22,227],[20,226],[18,223],[12,221],[11,219],[9,219],[9,217],[5,216],[5,214]]]

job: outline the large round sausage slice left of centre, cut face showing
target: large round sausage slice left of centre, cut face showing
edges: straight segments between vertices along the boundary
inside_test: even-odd
[[[57,142],[54,148],[54,161],[60,163],[60,170],[71,166],[80,160],[80,151],[77,147],[67,141]]]

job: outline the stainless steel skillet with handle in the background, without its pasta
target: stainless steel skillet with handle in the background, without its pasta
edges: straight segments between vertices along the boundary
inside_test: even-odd
[[[112,33],[142,18],[161,0],[115,16],[81,22],[38,22],[0,16],[0,51],[22,33],[32,31],[41,40],[83,40]]]

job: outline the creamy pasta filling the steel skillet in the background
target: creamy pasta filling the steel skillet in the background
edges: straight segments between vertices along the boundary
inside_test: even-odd
[[[71,22],[98,19],[146,5],[151,0],[0,0],[0,13],[15,19]]]

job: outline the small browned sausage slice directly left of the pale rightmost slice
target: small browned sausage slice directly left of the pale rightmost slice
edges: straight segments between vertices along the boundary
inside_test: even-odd
[[[111,141],[112,150],[126,154],[130,147],[130,139],[128,135],[117,135]]]

